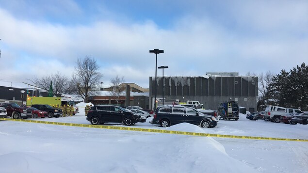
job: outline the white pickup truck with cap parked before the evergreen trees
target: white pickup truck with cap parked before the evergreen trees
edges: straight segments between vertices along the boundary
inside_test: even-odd
[[[287,115],[287,113],[293,113],[293,112],[303,113],[301,110],[298,110],[298,109],[268,105],[265,108],[264,120],[275,122],[275,123],[280,123],[280,118],[282,116]]]

